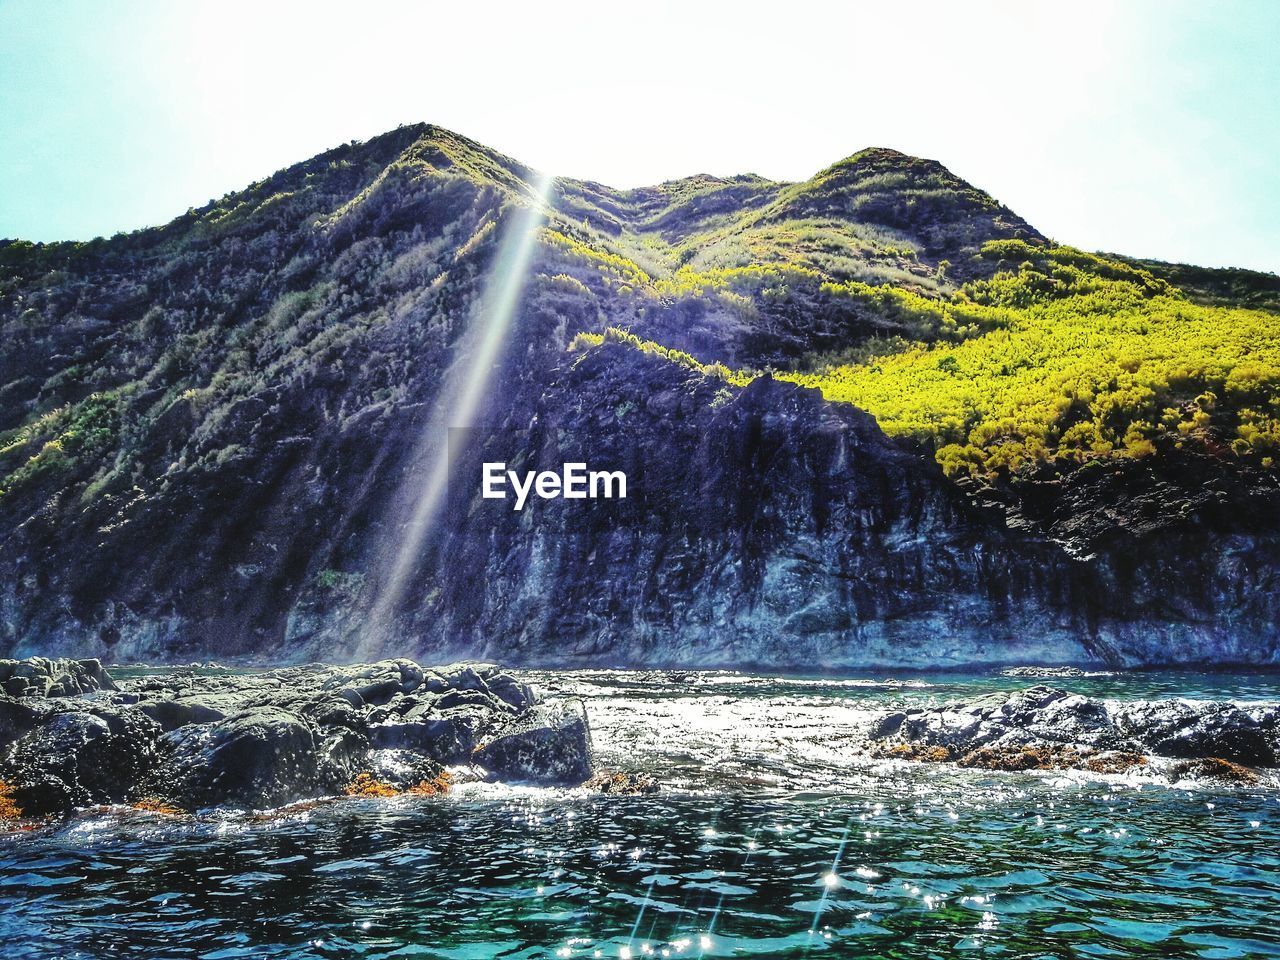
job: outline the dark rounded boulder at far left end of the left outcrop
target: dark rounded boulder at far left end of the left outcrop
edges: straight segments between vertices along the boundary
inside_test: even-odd
[[[122,803],[157,763],[160,726],[111,707],[45,713],[0,760],[0,780],[27,814]]]

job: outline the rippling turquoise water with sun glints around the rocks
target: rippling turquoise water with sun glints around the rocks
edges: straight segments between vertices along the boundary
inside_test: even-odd
[[[531,675],[653,796],[474,785],[0,838],[31,957],[1280,956],[1280,794],[872,762],[884,705],[1034,681]],[[1275,677],[1051,681],[1277,699]]]

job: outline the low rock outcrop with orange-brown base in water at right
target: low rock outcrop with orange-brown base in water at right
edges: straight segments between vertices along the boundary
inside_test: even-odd
[[[878,753],[964,765],[1083,765],[1103,754],[1275,767],[1280,708],[1210,700],[1102,700],[1034,686],[932,710],[886,714],[869,731]],[[1024,765],[1007,764],[1010,758]],[[1038,759],[1030,763],[1029,759]]]

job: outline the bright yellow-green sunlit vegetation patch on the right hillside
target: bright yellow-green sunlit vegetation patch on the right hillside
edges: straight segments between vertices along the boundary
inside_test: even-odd
[[[1149,271],[1068,247],[1000,241],[983,253],[1000,273],[933,307],[982,335],[786,379],[929,444],[950,474],[1183,443],[1272,465],[1275,314],[1193,303]]]

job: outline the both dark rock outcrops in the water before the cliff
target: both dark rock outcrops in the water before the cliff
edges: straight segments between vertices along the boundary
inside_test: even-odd
[[[115,668],[113,668],[115,669]],[[1005,671],[1006,676],[1030,676]],[[1069,677],[1066,672],[1052,676]],[[264,671],[0,660],[0,819],[95,806],[266,810],[438,795],[463,781],[649,792],[598,771],[586,708],[489,663],[408,659]],[[833,731],[836,732],[836,731]],[[1143,771],[1275,781],[1280,705],[1102,700],[1044,685],[879,712],[852,749],[1000,772]]]

